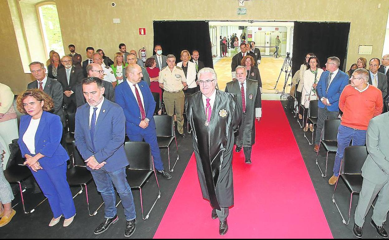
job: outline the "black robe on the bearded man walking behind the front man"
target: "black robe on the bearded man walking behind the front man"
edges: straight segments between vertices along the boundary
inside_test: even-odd
[[[242,124],[237,135],[237,146],[251,147],[255,143],[255,109],[261,108],[261,91],[258,81],[246,79],[247,89],[245,95],[246,113],[242,114]],[[235,93],[237,102],[242,106],[241,85],[238,80],[227,83],[226,92]]]

